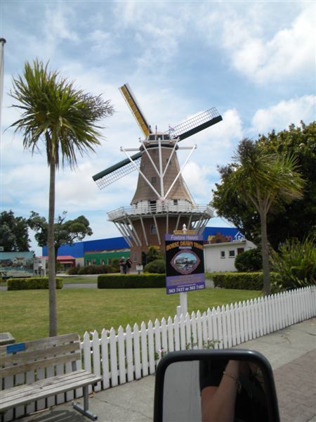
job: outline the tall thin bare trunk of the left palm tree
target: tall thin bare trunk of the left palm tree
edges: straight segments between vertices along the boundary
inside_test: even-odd
[[[49,165],[49,209],[48,209],[48,286],[49,286],[49,336],[57,335],[56,312],[56,275],[55,275],[55,158],[51,158]]]

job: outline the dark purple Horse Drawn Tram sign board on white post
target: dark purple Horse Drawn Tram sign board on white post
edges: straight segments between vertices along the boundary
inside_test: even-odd
[[[205,288],[203,236],[166,234],[166,293]]]

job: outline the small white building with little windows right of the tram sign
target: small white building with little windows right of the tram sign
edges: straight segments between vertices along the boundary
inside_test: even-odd
[[[239,253],[255,249],[256,245],[246,239],[204,245],[204,267],[206,272],[237,271],[235,258]]]

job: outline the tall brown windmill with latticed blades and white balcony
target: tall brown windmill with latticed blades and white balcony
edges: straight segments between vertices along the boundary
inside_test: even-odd
[[[129,84],[119,90],[145,138],[140,139],[139,148],[121,147],[126,159],[95,174],[93,180],[102,189],[138,171],[138,183],[130,206],[107,212],[107,216],[129,243],[133,262],[144,263],[149,246],[164,249],[164,234],[182,229],[183,224],[200,234],[213,217],[209,205],[195,204],[182,177],[183,168],[197,146],[181,147],[179,143],[223,119],[216,108],[211,108],[178,126],[169,127],[166,132],[153,131]],[[182,167],[177,157],[180,150],[189,152]]]

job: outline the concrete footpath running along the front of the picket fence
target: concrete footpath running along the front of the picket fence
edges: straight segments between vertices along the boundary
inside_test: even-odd
[[[282,422],[316,422],[316,319],[237,346],[257,350],[270,361],[275,376]],[[100,422],[152,421],[154,376],[92,395],[89,403]],[[62,404],[21,422],[86,422]]]

